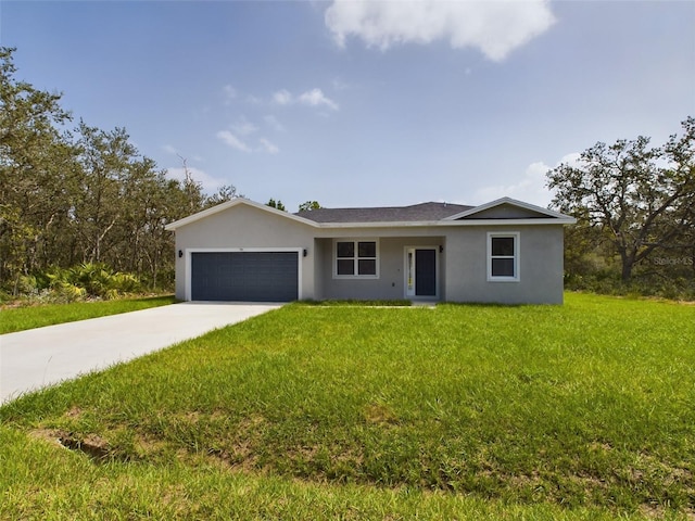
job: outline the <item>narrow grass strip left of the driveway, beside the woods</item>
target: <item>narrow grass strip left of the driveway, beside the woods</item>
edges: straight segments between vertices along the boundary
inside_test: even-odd
[[[77,302],[72,304],[42,304],[37,306],[5,307],[0,310],[0,334],[42,328],[55,323],[117,315],[150,307],[174,304],[173,295],[115,301]]]

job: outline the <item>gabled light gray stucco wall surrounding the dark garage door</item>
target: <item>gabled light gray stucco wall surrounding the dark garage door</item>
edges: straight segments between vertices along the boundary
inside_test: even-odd
[[[300,253],[300,295],[314,298],[314,229],[280,215],[240,204],[176,230],[176,297],[186,300],[192,250],[306,249]],[[178,256],[181,251],[184,255]]]

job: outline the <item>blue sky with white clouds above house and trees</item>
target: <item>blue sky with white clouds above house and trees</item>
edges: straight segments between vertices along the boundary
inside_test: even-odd
[[[695,115],[693,1],[14,1],[0,43],[75,123],[288,209],[546,205],[545,171]]]

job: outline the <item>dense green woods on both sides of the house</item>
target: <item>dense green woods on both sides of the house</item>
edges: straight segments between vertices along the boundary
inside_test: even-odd
[[[167,178],[124,128],[73,122],[60,94],[15,79],[13,52],[0,47],[0,295],[114,271],[128,274],[126,285],[169,288],[165,226],[236,196],[235,187],[206,195],[188,173]],[[695,298],[693,117],[660,147],[598,142],[547,178],[552,207],[578,219],[566,229],[567,287]]]

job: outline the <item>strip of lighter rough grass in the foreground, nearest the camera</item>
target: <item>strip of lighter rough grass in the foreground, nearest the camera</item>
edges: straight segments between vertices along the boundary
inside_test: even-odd
[[[98,465],[50,434],[0,425],[0,519],[611,521],[605,509],[509,505],[413,488],[303,482],[230,471],[204,457]],[[624,516],[620,519],[646,519]],[[675,521],[677,517],[668,517]]]

